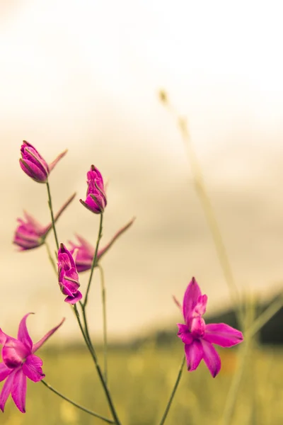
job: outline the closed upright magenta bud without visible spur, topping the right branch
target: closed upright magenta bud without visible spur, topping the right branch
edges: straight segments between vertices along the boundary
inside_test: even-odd
[[[86,183],[88,184],[86,201],[80,199],[80,203],[95,214],[101,214],[105,209],[107,199],[103,177],[94,165],[92,165],[91,170],[88,171]]]

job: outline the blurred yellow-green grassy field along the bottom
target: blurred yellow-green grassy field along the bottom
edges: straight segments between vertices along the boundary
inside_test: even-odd
[[[227,394],[237,368],[237,350],[221,350],[222,369],[213,379],[204,364],[193,373],[185,369],[168,414],[168,425],[220,425]],[[102,357],[102,353],[99,353]],[[84,350],[41,351],[46,381],[67,397],[110,417],[96,370]],[[137,351],[110,350],[109,384],[123,425],[158,425],[171,393],[183,344]],[[102,359],[101,359],[102,361]],[[202,362],[203,363],[203,362]],[[238,391],[233,425],[283,424],[283,351],[253,348],[248,352]],[[40,382],[28,380],[27,413],[11,397],[0,416],[5,425],[105,424],[54,395]]]

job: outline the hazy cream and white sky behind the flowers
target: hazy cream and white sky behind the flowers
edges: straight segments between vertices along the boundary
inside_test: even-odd
[[[137,217],[103,261],[112,337],[174,324],[171,295],[181,299],[193,275],[213,310],[229,302],[161,88],[190,120],[239,288],[282,287],[281,21],[278,1],[1,1],[4,331],[34,311],[33,334],[66,316],[60,334],[79,335],[44,247],[19,254],[11,245],[23,208],[49,222],[45,187],[18,166],[22,140],[49,162],[69,149],[50,178],[55,210],[78,193],[58,223],[62,242],[74,232],[96,239],[98,217],[79,204],[91,164],[109,181],[103,242]],[[96,277],[95,331],[99,294]]]

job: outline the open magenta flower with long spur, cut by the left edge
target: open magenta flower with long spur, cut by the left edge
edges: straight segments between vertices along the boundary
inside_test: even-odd
[[[16,407],[22,413],[25,413],[27,378],[33,382],[38,382],[45,378],[41,368],[42,360],[40,357],[35,356],[34,353],[64,322],[63,319],[57,327],[51,329],[40,341],[33,344],[25,323],[29,314],[33,313],[25,314],[23,319],[21,319],[17,339],[4,334],[0,329],[0,344],[3,346],[1,351],[3,361],[0,363],[0,382],[6,379],[0,395],[0,409],[2,412],[4,412],[6,401],[11,394]]]

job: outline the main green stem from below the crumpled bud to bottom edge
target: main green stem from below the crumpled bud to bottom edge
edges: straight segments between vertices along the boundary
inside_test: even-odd
[[[89,337],[88,323],[87,323],[87,320],[86,320],[86,311],[84,310],[82,303],[81,303],[81,308],[83,310],[83,324],[84,324],[85,329],[83,329],[83,326],[81,324],[81,318],[79,316],[79,311],[78,311],[76,305],[74,305],[74,312],[76,313],[76,319],[77,319],[77,321],[79,323],[79,328],[81,329],[81,334],[83,335],[83,339],[86,342],[86,346],[88,347],[88,351],[91,353],[91,357],[93,358],[93,363],[95,364],[96,371],[98,373],[98,378],[100,379],[100,382],[101,382],[101,384],[103,386],[103,390],[105,392],[105,396],[107,398],[108,405],[109,405],[110,411],[111,411],[112,416],[113,416],[113,419],[114,419],[114,422],[112,422],[112,423],[114,423],[116,425],[121,425],[121,422],[120,422],[120,420],[119,420],[119,418],[117,416],[117,412],[115,410],[114,404],[112,402],[112,397],[110,395],[110,390],[108,388],[107,383],[105,382],[105,380],[103,378],[103,373],[102,373],[102,370],[101,370],[100,365],[98,363],[98,358],[96,356],[96,351],[95,351],[95,349],[93,347],[93,344],[91,343],[91,339]]]

